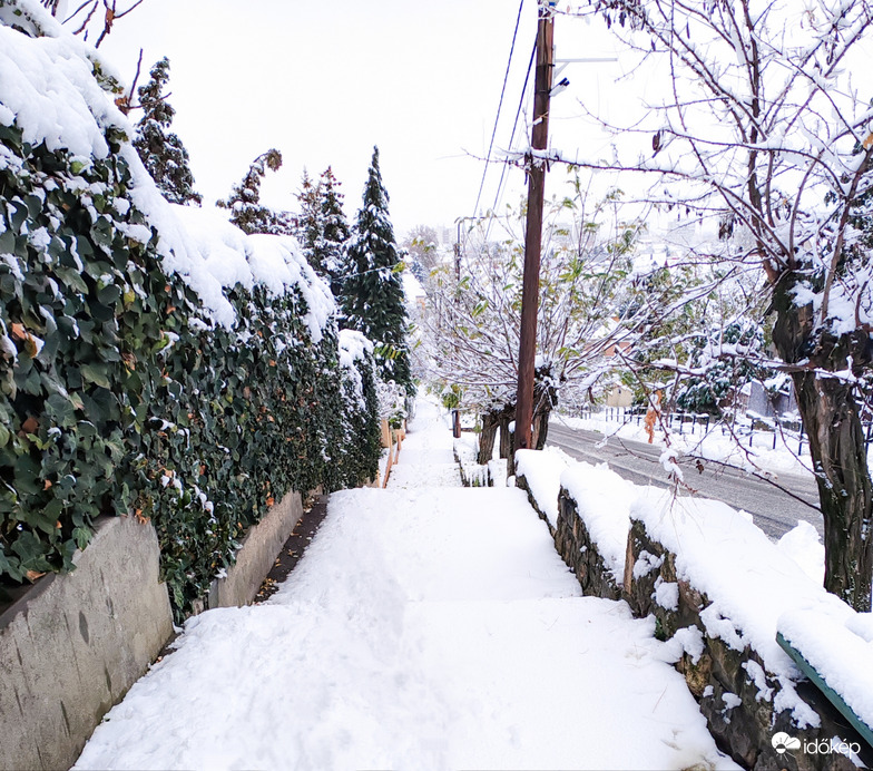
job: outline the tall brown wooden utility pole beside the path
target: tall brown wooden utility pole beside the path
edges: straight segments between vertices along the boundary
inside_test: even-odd
[[[537,311],[540,295],[542,203],[546,195],[546,160],[536,150],[549,146],[549,96],[555,53],[555,0],[539,0],[537,70],[533,95],[533,130],[528,157],[528,223],[524,235],[524,282],[521,290],[521,341],[518,359],[518,402],[514,449],[530,449],[533,422],[533,370],[537,357]]]

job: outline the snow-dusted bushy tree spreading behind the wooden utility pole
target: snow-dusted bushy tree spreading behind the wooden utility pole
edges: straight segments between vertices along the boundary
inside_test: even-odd
[[[431,275],[422,326],[431,374],[482,414],[480,462],[491,457],[501,429],[501,457],[511,451],[521,314],[521,217],[479,221],[459,266]],[[491,234],[491,238],[487,237]],[[635,271],[638,221],[618,216],[618,194],[586,208],[586,191],[552,202],[540,277],[539,357],[533,442],[542,448],[561,391],[587,390],[616,363],[617,349],[645,339],[667,313],[667,294]]]

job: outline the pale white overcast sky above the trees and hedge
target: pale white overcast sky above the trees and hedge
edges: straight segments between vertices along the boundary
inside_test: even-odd
[[[354,216],[379,145],[400,238],[416,224],[453,228],[474,213],[518,8],[518,0],[145,0],[100,50],[130,80],[144,48],[140,84],[169,57],[174,129],[205,201],[226,196],[255,156],[277,147],[284,167],[265,183],[271,205],[296,209],[304,167],[317,175],[332,165]],[[536,27],[536,0],[526,0],[499,148],[509,141]],[[605,28],[566,17],[556,42],[558,57],[611,52]],[[578,97],[585,89],[602,106],[620,64],[573,65],[566,75],[572,86],[555,100],[552,119],[562,149],[592,141]],[[528,134],[520,125],[516,144]],[[492,167],[480,209],[493,204],[499,177]],[[523,175],[514,169],[509,179],[503,202],[514,204]]]

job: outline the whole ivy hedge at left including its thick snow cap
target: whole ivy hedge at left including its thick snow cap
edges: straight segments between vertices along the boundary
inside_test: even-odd
[[[372,350],[294,241],[167,204],[106,71],[0,0],[0,579],[129,513],[183,613],[287,491],[375,475]]]

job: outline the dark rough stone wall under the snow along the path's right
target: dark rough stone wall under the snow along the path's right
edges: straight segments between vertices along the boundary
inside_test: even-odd
[[[558,525],[550,529],[559,554],[576,573],[586,595],[621,598],[635,616],[654,615],[656,634],[663,641],[688,641],[689,635],[699,640],[702,650],[693,653],[686,650],[676,668],[685,675],[719,748],[734,761],[754,771],[852,771],[856,768],[846,757],[834,752],[777,753],[772,739],[784,731],[804,745],[824,742],[830,746],[834,736],[847,743],[856,742],[862,748],[862,760],[873,767],[870,748],[813,685],[798,683],[797,694],[820,716],[818,728],[802,729],[793,721],[791,711],[776,707],[782,691],[779,681],[766,671],[761,656],[751,647],[736,651],[706,633],[700,614],[709,606],[709,598],[678,578],[676,555],[650,538],[644,523],[631,519],[621,586],[606,569],[576,501],[563,489]],[[635,569],[638,565],[644,565],[645,569]],[[657,589],[663,584],[677,585],[675,603],[657,602]],[[667,604],[670,607],[665,607]],[[680,633],[678,637],[677,633]],[[684,647],[695,648],[695,645],[685,644]]]

